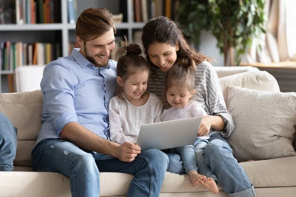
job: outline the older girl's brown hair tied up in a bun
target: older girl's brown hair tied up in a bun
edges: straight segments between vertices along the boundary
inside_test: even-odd
[[[116,75],[125,81],[129,76],[138,71],[147,71],[149,73],[149,66],[142,54],[142,49],[139,44],[128,43],[124,36],[124,41],[120,41],[121,47],[117,49],[115,58],[117,61]],[[117,96],[120,99],[121,94],[124,92],[123,88],[117,84]],[[124,100],[124,99],[123,99]]]

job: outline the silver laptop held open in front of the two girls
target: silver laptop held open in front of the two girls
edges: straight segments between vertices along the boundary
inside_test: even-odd
[[[194,117],[142,125],[137,144],[142,151],[193,145],[201,119]]]

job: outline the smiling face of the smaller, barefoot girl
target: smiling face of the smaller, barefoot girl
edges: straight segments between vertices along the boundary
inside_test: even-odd
[[[192,97],[193,94],[194,91],[190,93],[186,88],[172,86],[168,89],[166,97],[168,103],[172,107],[180,109],[185,107],[185,105],[188,103],[189,99]]]

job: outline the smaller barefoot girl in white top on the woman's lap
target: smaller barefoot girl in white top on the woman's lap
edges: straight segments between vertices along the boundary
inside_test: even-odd
[[[162,121],[208,115],[203,109],[201,102],[192,100],[192,97],[195,94],[195,69],[196,68],[193,61],[189,62],[186,59],[180,59],[168,71],[165,78],[163,96],[168,101],[169,106],[166,107],[162,112]],[[197,136],[196,139],[206,140],[209,138],[209,135],[206,135]],[[196,142],[194,145],[196,145]],[[204,151],[202,147],[201,150]],[[210,192],[214,194],[219,192],[216,182],[213,180],[213,178],[211,178],[211,174],[213,173],[203,161],[199,161],[200,154],[195,154],[195,148],[192,145],[171,149],[170,152],[174,151],[177,151],[180,154],[183,160],[185,172],[189,175],[189,179],[193,185],[198,185],[198,183],[201,183],[205,188],[210,190]],[[210,178],[206,178],[206,176],[198,174],[196,164],[198,168],[202,168],[203,172],[207,170],[208,173],[206,175]]]

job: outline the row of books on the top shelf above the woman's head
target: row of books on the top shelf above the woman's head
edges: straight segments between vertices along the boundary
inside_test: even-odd
[[[135,22],[147,22],[148,19],[166,16],[177,20],[177,10],[181,0],[132,0],[132,17]]]

